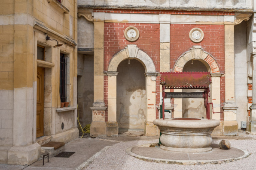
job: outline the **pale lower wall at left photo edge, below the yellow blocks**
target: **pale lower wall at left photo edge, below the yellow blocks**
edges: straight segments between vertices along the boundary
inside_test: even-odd
[[[0,146],[13,146],[12,90],[0,90]]]

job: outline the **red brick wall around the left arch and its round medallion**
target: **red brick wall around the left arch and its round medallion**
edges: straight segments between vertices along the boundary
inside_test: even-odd
[[[140,31],[137,41],[130,42],[124,37],[124,31],[128,26],[135,26]],[[113,56],[129,44],[147,53],[155,64],[155,70],[160,71],[160,25],[149,23],[104,23],[104,70],[107,71]],[[107,78],[104,79],[104,102],[107,104]],[[157,78],[156,86],[159,86]],[[160,91],[156,89],[156,105],[159,104]],[[156,109],[158,117],[158,111]],[[106,111],[107,117],[107,111]],[[105,119],[107,121],[107,118]]]

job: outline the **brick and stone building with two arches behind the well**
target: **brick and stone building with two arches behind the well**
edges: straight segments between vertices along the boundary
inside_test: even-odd
[[[157,135],[152,121],[159,118],[162,100],[160,72],[208,71],[210,102],[221,112],[211,110],[210,117],[220,121],[213,134],[238,135],[241,122],[256,132],[255,5],[254,0],[78,0],[83,126],[91,123],[92,136],[127,130]],[[168,117],[206,118],[203,99],[165,99],[165,107]]]

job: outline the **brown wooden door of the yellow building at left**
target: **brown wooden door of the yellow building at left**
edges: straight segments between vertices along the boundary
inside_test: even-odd
[[[44,68],[37,67],[37,138],[43,136]]]

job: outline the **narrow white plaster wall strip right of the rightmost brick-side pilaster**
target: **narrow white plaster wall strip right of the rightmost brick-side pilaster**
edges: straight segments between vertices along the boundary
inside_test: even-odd
[[[238,128],[247,119],[247,53],[246,23],[235,25],[235,102],[238,105]]]

